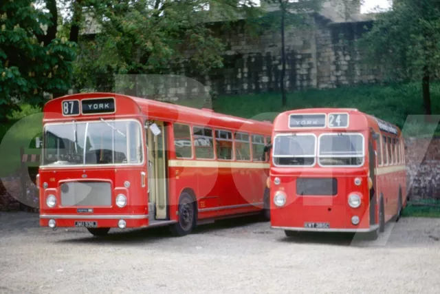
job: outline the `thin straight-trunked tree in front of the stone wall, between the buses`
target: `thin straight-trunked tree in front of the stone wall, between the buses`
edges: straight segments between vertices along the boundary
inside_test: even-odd
[[[265,26],[269,25],[281,34],[281,74],[280,89],[281,103],[287,105],[287,97],[285,91],[285,72],[286,72],[286,56],[285,56],[285,30],[287,28],[304,29],[311,25],[311,16],[318,12],[322,6],[323,0],[265,0],[267,3],[276,3],[278,10],[268,12],[263,17],[262,22]]]

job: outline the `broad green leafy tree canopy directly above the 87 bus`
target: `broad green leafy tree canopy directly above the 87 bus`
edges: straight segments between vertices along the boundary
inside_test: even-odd
[[[77,72],[78,87],[96,84],[105,74],[168,74],[182,61],[199,74],[221,67],[224,45],[209,23],[234,21],[256,10],[252,1],[105,0],[90,1],[89,12],[100,25],[85,42]],[[135,93],[132,93],[135,94]]]

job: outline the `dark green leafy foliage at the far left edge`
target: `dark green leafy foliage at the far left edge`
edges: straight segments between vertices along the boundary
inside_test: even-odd
[[[17,101],[43,103],[43,93],[69,89],[75,44],[54,39],[45,44],[42,27],[48,15],[32,0],[5,1],[0,5],[0,120],[19,109]]]

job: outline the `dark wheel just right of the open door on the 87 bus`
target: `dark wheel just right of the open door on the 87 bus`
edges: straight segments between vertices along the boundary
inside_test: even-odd
[[[171,233],[183,236],[191,233],[195,227],[195,202],[188,193],[181,193],[179,199],[179,221],[170,226]]]

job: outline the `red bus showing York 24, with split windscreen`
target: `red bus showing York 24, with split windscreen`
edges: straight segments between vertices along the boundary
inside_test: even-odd
[[[358,109],[297,109],[274,120],[270,224],[375,239],[406,207],[404,138]]]

